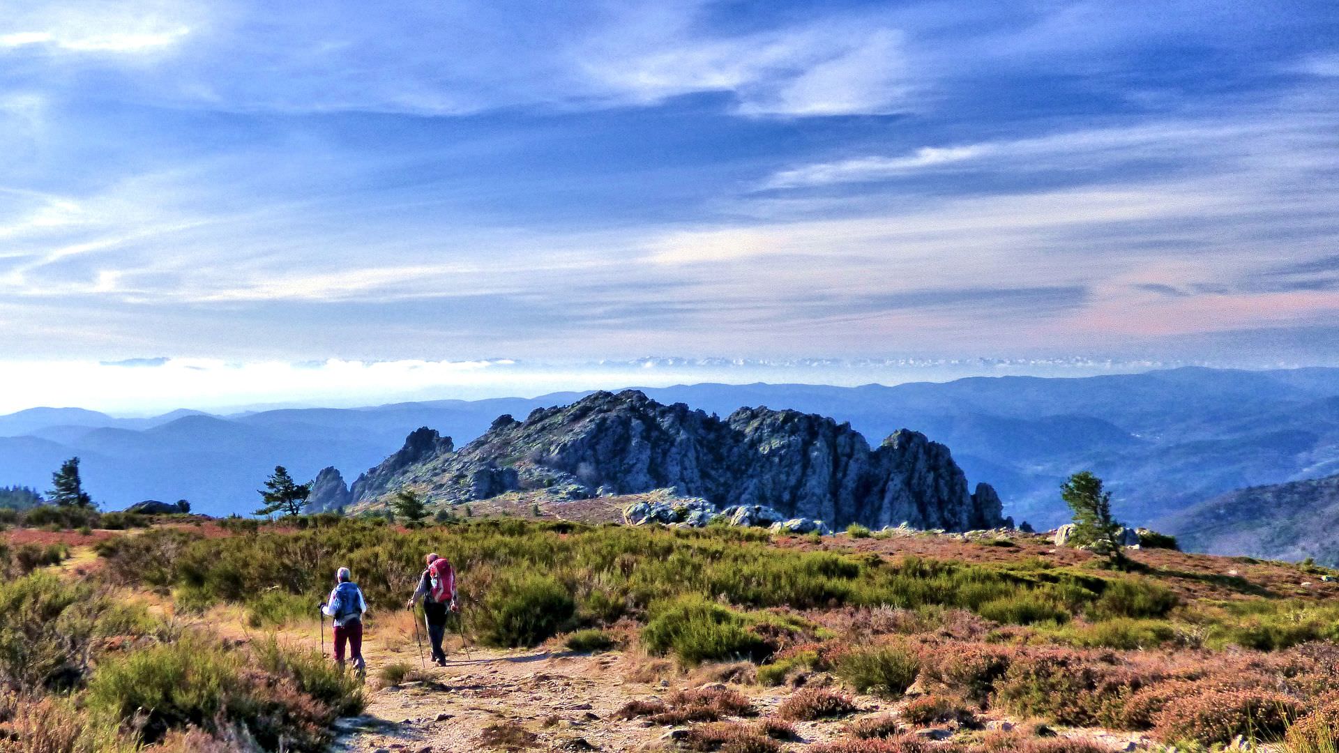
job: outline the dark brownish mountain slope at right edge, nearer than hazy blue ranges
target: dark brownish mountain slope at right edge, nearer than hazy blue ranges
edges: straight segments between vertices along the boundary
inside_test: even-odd
[[[1239,489],[1164,525],[1196,552],[1339,565],[1339,476]]]

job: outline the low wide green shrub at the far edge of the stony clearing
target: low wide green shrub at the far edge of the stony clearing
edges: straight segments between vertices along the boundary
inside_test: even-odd
[[[771,653],[771,647],[749,630],[744,615],[702,596],[652,604],[641,642],[655,654],[674,651],[686,666],[727,659],[761,661]]]

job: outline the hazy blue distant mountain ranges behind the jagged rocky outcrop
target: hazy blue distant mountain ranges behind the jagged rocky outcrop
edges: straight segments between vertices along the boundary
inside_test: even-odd
[[[969,378],[948,383],[830,387],[692,385],[643,390],[728,415],[740,406],[794,409],[848,421],[872,443],[908,427],[943,442],[975,484],[988,481],[1004,515],[1036,527],[1067,513],[1059,485],[1074,470],[1107,480],[1121,517],[1185,536],[1178,513],[1233,489],[1339,473],[1339,368],[1176,368],[1090,378]],[[194,509],[248,513],[274,465],[299,478],[325,466],[370,469],[419,426],[457,446],[501,414],[568,405],[588,393],[435,401],[368,409],[177,411],[115,419],[74,409],[0,417],[0,485],[46,489],[66,457],[83,458],[106,508],[189,498]]]

